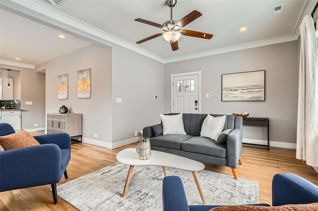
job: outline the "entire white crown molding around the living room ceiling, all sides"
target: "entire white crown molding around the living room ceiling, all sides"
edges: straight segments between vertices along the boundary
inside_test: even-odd
[[[85,40],[89,40],[93,43],[99,43],[102,45],[114,47],[115,45],[121,46],[123,48],[129,49],[136,53],[140,53],[147,57],[150,57],[154,60],[157,60],[161,63],[171,63],[176,61],[182,61],[187,59],[193,59],[198,57],[204,57],[209,55],[216,55],[221,53],[229,53],[235,52],[250,48],[256,48],[261,46],[273,45],[278,43],[284,43],[289,41],[297,40],[299,37],[299,27],[297,27],[302,20],[302,16],[306,13],[310,12],[311,8],[313,7],[314,3],[318,0],[309,1],[306,0],[304,3],[304,7],[302,8],[302,15],[299,17],[299,21],[294,28],[294,32],[291,35],[276,37],[261,41],[255,41],[245,44],[240,44],[236,46],[230,46],[221,49],[214,49],[211,51],[200,52],[200,53],[193,53],[178,57],[172,58],[163,58],[159,55],[146,51],[136,45],[128,43],[122,39],[119,39],[115,36],[112,36],[106,32],[103,32],[95,27],[92,27],[82,21],[79,21],[73,17],[68,16],[62,12],[59,12],[45,4],[37,1],[37,0],[1,0],[0,5],[2,8],[14,12],[18,15],[23,17],[35,20],[37,22],[49,25],[53,28],[63,29],[64,31],[69,31],[70,34],[75,34],[79,37],[85,38]],[[298,31],[297,31],[298,28]],[[296,35],[295,35],[296,33]]]

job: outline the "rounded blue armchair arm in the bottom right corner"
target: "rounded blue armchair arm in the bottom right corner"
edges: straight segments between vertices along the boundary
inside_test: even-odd
[[[272,182],[272,205],[311,204],[318,202],[318,186],[291,173],[275,174]]]

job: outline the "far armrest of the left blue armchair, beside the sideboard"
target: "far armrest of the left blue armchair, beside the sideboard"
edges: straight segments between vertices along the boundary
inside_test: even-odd
[[[67,133],[34,136],[40,144],[56,144],[60,149],[71,149],[71,137]]]

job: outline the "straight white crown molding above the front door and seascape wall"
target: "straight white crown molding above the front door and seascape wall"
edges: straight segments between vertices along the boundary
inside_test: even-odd
[[[230,46],[230,47],[221,48],[221,49],[214,49],[214,50],[206,51],[206,52],[192,53],[192,54],[188,54],[188,55],[184,55],[184,56],[167,58],[164,60],[164,62],[171,63],[171,62],[183,61],[183,60],[199,58],[199,57],[204,57],[204,56],[209,56],[209,55],[216,55],[216,54],[221,54],[221,53],[241,51],[241,50],[252,49],[252,48],[257,48],[257,47],[261,47],[261,46],[268,46],[268,45],[273,45],[273,44],[278,44],[278,43],[290,42],[290,41],[294,41],[297,39],[298,39],[298,37],[295,35],[287,35],[287,36],[276,37],[276,38],[271,38],[271,39],[266,39],[266,40],[260,40],[260,41],[256,41],[256,42],[244,43],[244,44]]]

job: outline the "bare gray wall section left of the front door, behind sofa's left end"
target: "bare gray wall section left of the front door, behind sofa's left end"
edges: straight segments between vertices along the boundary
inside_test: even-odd
[[[160,123],[164,65],[119,46],[112,49],[113,142],[118,142],[135,137],[135,131],[139,133],[145,126]],[[122,98],[122,104],[116,104],[116,98]]]

